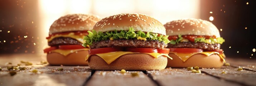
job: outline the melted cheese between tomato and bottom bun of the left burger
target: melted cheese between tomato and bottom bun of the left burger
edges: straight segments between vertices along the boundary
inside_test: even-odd
[[[60,53],[63,56],[67,56],[70,53],[76,53],[77,51],[87,51],[89,50],[89,48],[84,48],[84,49],[55,49],[52,50],[50,53],[54,52],[54,53]]]

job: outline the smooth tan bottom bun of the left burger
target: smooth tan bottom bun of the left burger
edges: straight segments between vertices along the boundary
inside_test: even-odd
[[[77,51],[77,53],[70,53],[67,56],[60,53],[48,53],[47,61],[50,65],[84,66],[88,65],[88,62],[85,61],[87,55],[88,51]]]

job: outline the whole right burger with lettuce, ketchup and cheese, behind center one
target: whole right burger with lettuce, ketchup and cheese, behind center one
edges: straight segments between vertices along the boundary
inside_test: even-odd
[[[225,40],[215,25],[202,19],[181,19],[166,23],[170,54],[167,67],[219,68],[225,62],[221,44]]]

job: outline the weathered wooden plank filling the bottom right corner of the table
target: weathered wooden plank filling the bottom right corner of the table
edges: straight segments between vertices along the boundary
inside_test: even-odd
[[[256,86],[256,72],[253,71],[237,71],[238,68],[223,66],[220,69],[200,69],[203,72],[207,72],[208,74],[219,77],[226,81],[237,82],[241,85],[252,85]],[[222,74],[222,71],[226,71],[227,74]]]

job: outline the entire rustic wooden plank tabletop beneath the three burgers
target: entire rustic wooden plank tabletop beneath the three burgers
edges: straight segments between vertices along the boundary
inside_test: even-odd
[[[33,65],[11,76],[8,66],[20,61]],[[0,55],[0,86],[256,86],[256,60],[226,58],[231,66],[201,68],[202,73],[192,73],[186,68],[166,68],[159,71],[94,71],[88,66],[48,66],[46,54]],[[11,64],[8,64],[10,62]],[[57,69],[62,67],[63,71]],[[242,67],[242,71],[237,71]],[[37,73],[31,72],[37,69]],[[226,71],[227,74],[222,74]],[[131,73],[137,72],[138,76]]]

